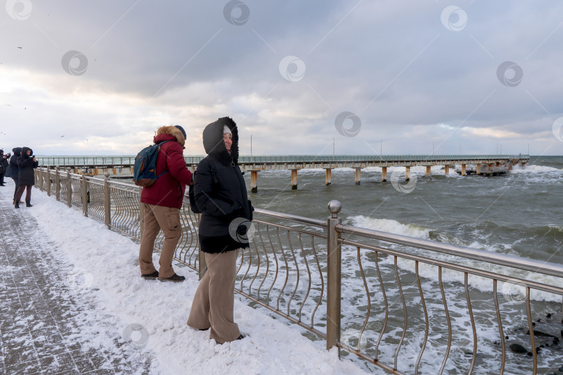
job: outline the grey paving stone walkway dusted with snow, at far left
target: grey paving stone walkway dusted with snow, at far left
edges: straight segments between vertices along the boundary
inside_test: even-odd
[[[13,185],[0,189],[12,194]],[[149,374],[151,358],[124,343],[111,322],[99,323],[103,312],[99,322],[83,319],[95,302],[73,288],[71,266],[48,236],[40,240],[33,207],[16,210],[1,198],[0,374]],[[99,324],[99,337],[81,335],[86,324]]]

